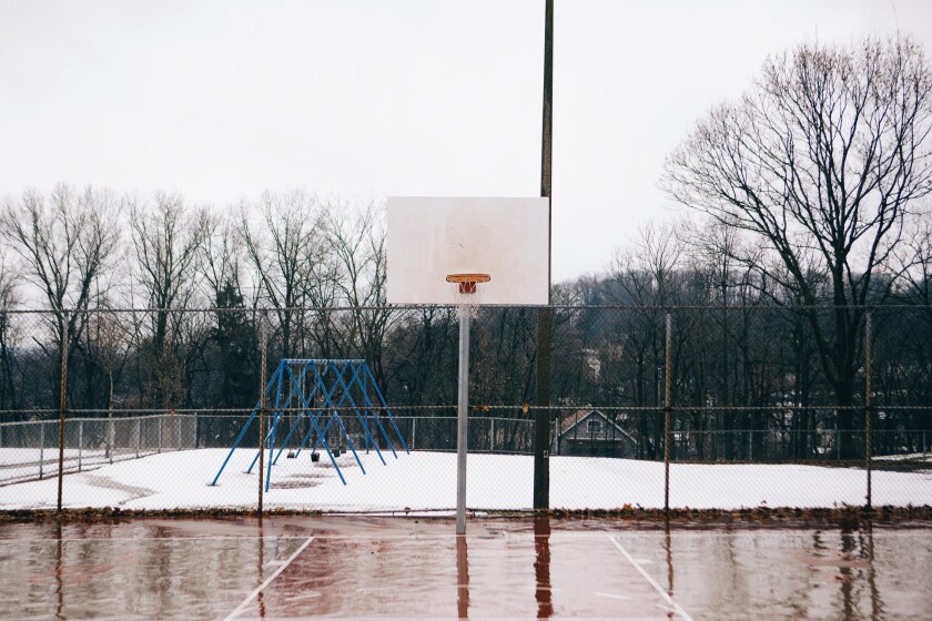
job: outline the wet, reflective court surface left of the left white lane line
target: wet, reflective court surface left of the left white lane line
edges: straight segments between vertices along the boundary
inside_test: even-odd
[[[286,558],[292,538],[75,538],[0,542],[6,619],[201,618],[232,609]]]

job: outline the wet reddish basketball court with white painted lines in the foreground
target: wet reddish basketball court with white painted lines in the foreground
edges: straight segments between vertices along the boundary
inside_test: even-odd
[[[918,619],[928,525],[282,517],[0,525],[4,619]]]

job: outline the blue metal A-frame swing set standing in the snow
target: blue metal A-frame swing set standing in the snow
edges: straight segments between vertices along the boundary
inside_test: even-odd
[[[346,377],[347,373],[348,379]],[[372,386],[375,391],[375,403],[369,397],[369,386]],[[312,434],[316,431],[316,440],[314,441],[314,446],[311,450],[312,452],[316,452],[316,450],[323,446],[343,485],[346,485],[346,478],[343,476],[343,472],[336,462],[336,458],[331,450],[331,446],[327,442],[327,432],[334,423],[336,424],[336,428],[338,428],[340,437],[346,440],[346,446],[351,451],[353,451],[353,457],[355,457],[356,464],[359,466],[359,470],[363,475],[366,474],[366,469],[359,459],[358,452],[356,452],[356,446],[350,438],[350,432],[346,430],[343,418],[340,416],[341,408],[355,416],[355,419],[359,423],[359,426],[364,430],[363,440],[365,442],[366,452],[368,452],[371,448],[375,449],[375,452],[378,455],[378,459],[383,465],[385,465],[385,457],[378,448],[378,442],[373,435],[371,423],[375,423],[375,426],[378,431],[381,431],[386,446],[391,449],[395,459],[398,458],[398,454],[395,451],[395,445],[393,444],[388,431],[385,429],[385,425],[383,425],[383,416],[379,416],[379,411],[382,411],[384,417],[388,419],[388,423],[392,424],[391,427],[394,429],[401,447],[405,449],[406,454],[411,452],[407,444],[405,444],[404,437],[402,437],[401,429],[398,429],[398,426],[395,423],[395,417],[392,416],[392,410],[388,409],[388,405],[385,403],[385,397],[383,397],[382,390],[379,390],[378,384],[375,381],[372,369],[369,369],[365,360],[283,358],[278,363],[275,373],[272,374],[272,378],[269,380],[269,384],[265,386],[265,397],[271,398],[273,394],[274,405],[272,406],[270,413],[272,414],[272,425],[263,439],[262,447],[259,451],[256,451],[255,458],[253,458],[252,464],[250,464],[250,467],[246,470],[246,472],[252,472],[256,461],[259,461],[260,452],[267,448],[269,466],[265,474],[266,491],[269,491],[272,482],[272,467],[277,464],[278,458],[282,456],[282,451],[284,451],[287,447],[288,440],[297,430],[301,420],[304,417],[307,417],[311,425],[307,432],[304,435],[304,438],[302,438],[294,457],[301,455],[305,445],[308,444]],[[356,398],[354,398],[354,395]],[[318,399],[317,405],[313,404],[315,397]],[[348,405],[344,406],[347,401]],[[295,405],[292,405],[293,403]],[[233,452],[240,447],[246,431],[253,420],[255,420],[255,417],[259,415],[261,407],[262,399],[260,399],[256,404],[249,419],[246,419],[246,424],[243,425],[242,430],[240,430],[236,441],[233,442],[233,447],[226,455],[226,459],[223,460],[223,465],[220,467],[220,470],[217,470],[216,476],[211,482],[212,486],[216,485],[216,481],[220,479],[220,475],[223,474],[223,469],[226,468],[230,458],[233,457]],[[286,414],[294,411],[297,413],[297,416],[292,423],[284,440],[282,440],[278,445],[278,452],[275,452],[275,438],[278,434],[278,426],[283,425],[283,419]],[[325,418],[326,421],[324,423]]]

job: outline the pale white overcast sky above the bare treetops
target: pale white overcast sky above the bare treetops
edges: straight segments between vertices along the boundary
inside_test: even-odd
[[[555,281],[675,216],[665,155],[768,54],[898,28],[932,53],[932,1],[556,0]],[[0,0],[0,196],[536,196],[543,40],[544,0]]]

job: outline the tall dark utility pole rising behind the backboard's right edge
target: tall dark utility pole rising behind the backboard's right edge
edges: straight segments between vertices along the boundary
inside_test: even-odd
[[[540,140],[540,196],[550,198],[554,138],[554,0],[545,0],[544,14],[544,132]],[[554,207],[549,204],[553,224]],[[550,226],[548,225],[548,231]],[[547,241],[547,302],[550,303],[551,240]],[[537,312],[537,395],[534,410],[534,508],[550,508],[550,308]]]

